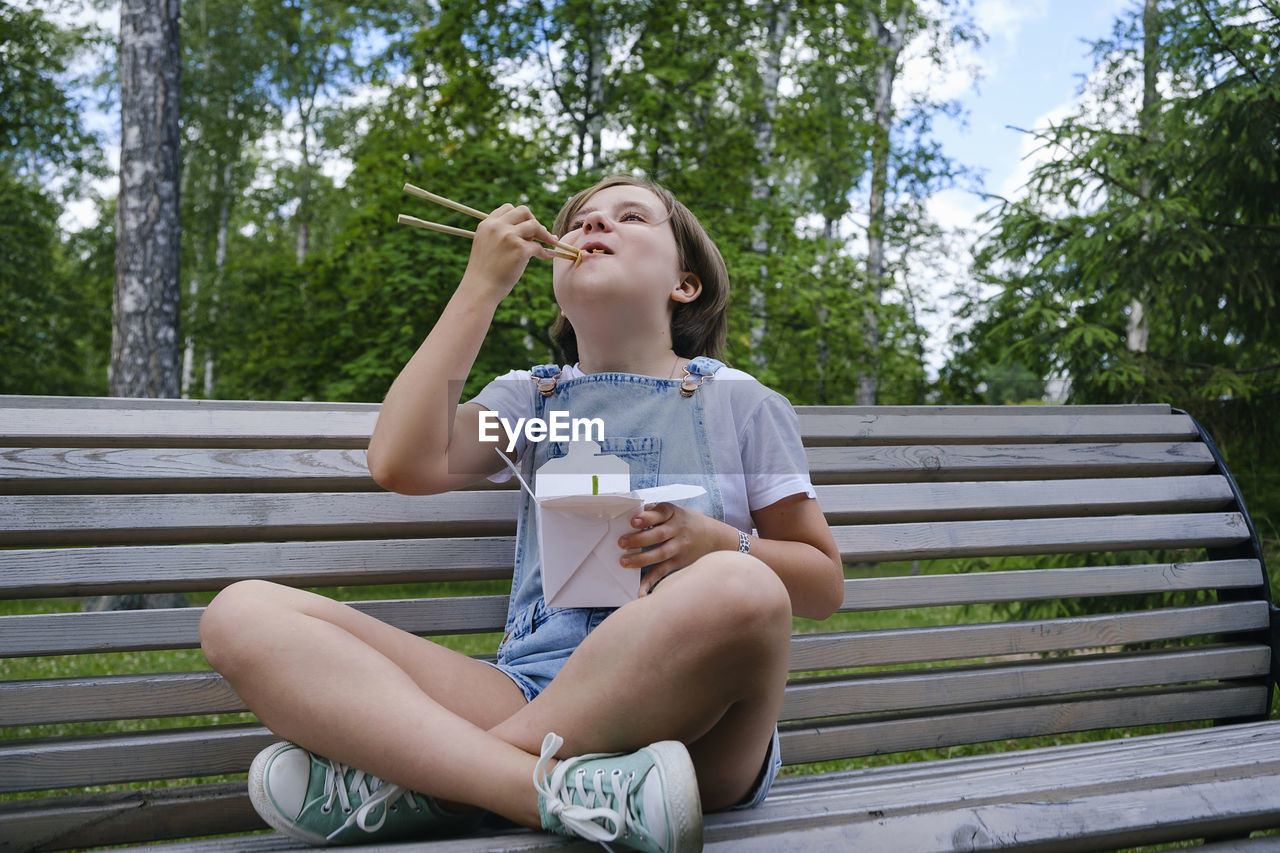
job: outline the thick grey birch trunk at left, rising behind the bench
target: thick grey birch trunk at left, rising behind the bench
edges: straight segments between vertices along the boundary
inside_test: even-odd
[[[178,0],[120,4],[120,195],[110,393],[177,397]]]

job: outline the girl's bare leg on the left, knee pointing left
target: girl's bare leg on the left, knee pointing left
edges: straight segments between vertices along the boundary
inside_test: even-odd
[[[210,665],[282,738],[410,790],[540,825],[536,754],[485,731],[525,704],[498,670],[262,581],[225,589],[200,629]]]

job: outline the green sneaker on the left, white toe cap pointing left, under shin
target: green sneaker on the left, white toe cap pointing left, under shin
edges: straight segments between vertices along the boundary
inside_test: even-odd
[[[319,847],[458,834],[480,822],[287,742],[253,760],[248,798],[274,829]]]

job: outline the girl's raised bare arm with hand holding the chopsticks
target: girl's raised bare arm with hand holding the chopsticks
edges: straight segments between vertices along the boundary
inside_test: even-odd
[[[404,494],[468,485],[502,465],[479,439],[480,406],[458,406],[498,304],[554,242],[527,207],[503,205],[476,228],[462,282],[431,333],[392,383],[369,441],[369,473]]]

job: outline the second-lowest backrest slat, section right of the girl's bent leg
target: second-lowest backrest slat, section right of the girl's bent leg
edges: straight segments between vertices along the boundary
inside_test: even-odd
[[[1134,654],[832,676],[787,685],[780,720],[886,713],[979,702],[1024,702],[1091,690],[1266,678],[1267,646],[1202,647]]]

